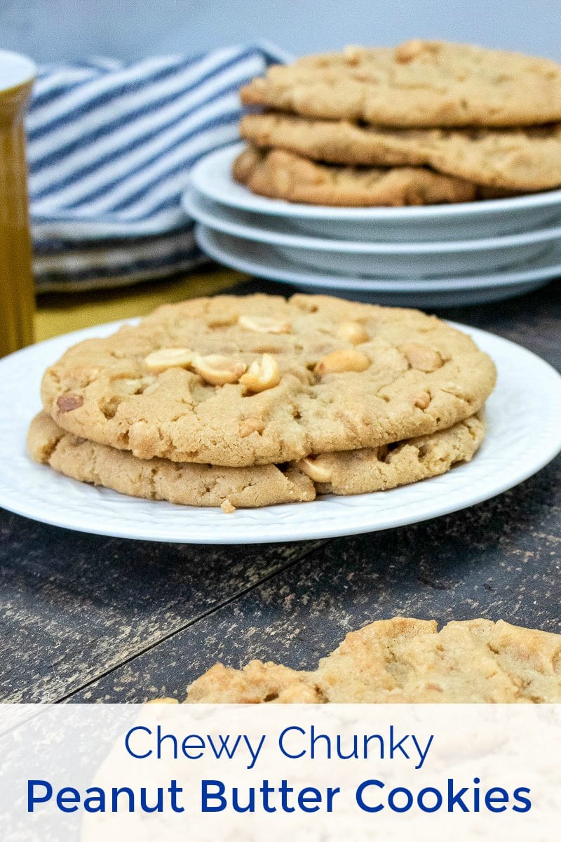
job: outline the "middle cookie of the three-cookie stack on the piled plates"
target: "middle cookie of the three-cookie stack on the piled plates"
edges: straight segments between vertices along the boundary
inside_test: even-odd
[[[561,125],[529,129],[384,129],[347,120],[246,115],[241,136],[253,146],[334,164],[432,167],[474,184],[545,190],[561,184]]]

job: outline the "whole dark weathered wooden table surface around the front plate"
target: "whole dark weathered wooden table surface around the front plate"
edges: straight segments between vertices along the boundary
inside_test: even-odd
[[[561,368],[559,291],[441,315]],[[183,698],[217,660],[311,667],[349,630],[395,614],[561,632],[560,488],[558,458],[458,514],[263,546],[124,541],[0,510],[0,701]]]

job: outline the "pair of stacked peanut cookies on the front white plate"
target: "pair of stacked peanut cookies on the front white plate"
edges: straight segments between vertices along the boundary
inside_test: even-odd
[[[160,307],[45,372],[35,461],[176,504],[380,491],[470,460],[495,366],[415,310],[328,296]]]

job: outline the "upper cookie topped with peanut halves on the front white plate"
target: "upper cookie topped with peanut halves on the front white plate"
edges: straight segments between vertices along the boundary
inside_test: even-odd
[[[216,296],[75,345],[46,370],[42,397],[84,439],[237,467],[447,429],[494,385],[471,338],[415,310]]]

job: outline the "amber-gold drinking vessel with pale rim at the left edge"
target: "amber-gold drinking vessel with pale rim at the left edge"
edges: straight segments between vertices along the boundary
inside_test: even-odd
[[[0,50],[0,356],[33,342],[24,115],[33,61]]]

